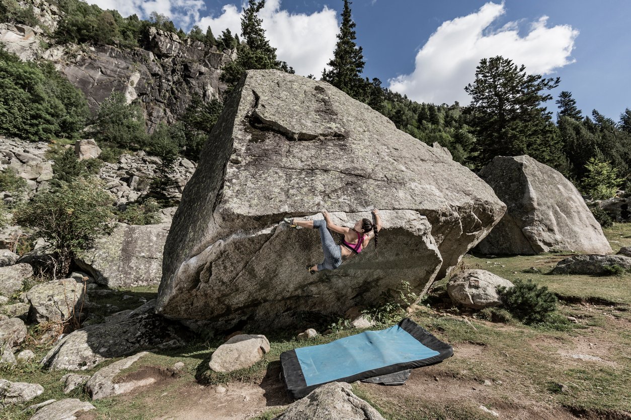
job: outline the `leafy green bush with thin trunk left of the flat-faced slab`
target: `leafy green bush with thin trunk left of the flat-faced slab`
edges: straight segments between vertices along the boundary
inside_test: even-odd
[[[46,239],[57,254],[56,275],[68,273],[73,256],[114,229],[112,195],[97,178],[60,181],[15,212],[15,222]]]

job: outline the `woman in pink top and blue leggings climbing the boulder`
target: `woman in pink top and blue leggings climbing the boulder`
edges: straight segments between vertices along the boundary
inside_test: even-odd
[[[307,265],[309,273],[315,274],[322,270],[335,270],[343,260],[350,258],[355,254],[362,252],[367,247],[370,239],[375,238],[375,248],[377,247],[377,232],[381,229],[381,220],[379,219],[379,210],[372,210],[375,216],[373,224],[369,219],[359,220],[353,228],[338,226],[331,222],[328,212],[322,212],[324,220],[296,220],[285,218],[283,221],[293,229],[307,227],[309,229],[317,229],[320,232],[320,240],[322,241],[322,252],[324,253],[324,261],[321,264],[313,266]],[[343,234],[344,237],[339,244],[336,244],[328,229]]]

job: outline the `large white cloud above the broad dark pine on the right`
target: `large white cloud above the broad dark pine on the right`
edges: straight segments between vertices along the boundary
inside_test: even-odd
[[[464,86],[474,81],[476,66],[485,57],[502,55],[526,65],[530,74],[550,74],[574,62],[570,54],[579,31],[569,25],[548,28],[547,16],[531,23],[524,37],[518,22],[490,31],[504,13],[504,3],[487,3],[476,13],[445,21],[416,54],[415,70],[390,79],[389,89],[419,102],[466,105],[471,99]]]

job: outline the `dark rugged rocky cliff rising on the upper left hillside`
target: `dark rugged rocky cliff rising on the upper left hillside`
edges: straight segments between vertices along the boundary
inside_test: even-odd
[[[150,28],[140,48],[111,45],[52,45],[47,33],[61,11],[42,0],[29,0],[41,26],[0,23],[0,42],[23,60],[50,60],[88,98],[92,111],[112,92],[125,94],[143,109],[148,132],[158,123],[173,123],[191,102],[219,98],[226,89],[219,81],[223,65],[236,50],[218,51],[204,43],[180,39],[175,33]]]

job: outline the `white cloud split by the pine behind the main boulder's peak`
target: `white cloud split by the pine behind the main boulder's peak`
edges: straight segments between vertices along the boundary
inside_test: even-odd
[[[232,33],[241,33],[241,13],[227,4],[219,16],[206,16],[198,21],[202,30],[207,26],[215,36],[229,28]],[[297,74],[320,76],[326,63],[333,57],[333,50],[339,32],[337,12],[326,6],[312,14],[289,13],[281,9],[280,0],[268,0],[259,13],[262,27],[269,43],[276,49],[278,59],[291,65]]]

